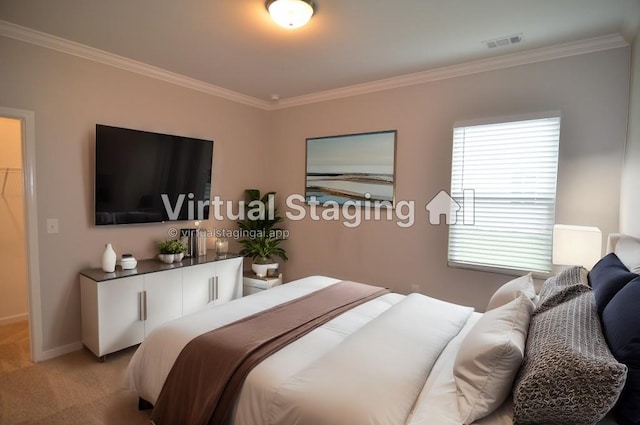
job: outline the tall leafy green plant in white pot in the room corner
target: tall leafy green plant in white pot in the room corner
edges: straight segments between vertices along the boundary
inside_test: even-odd
[[[260,194],[258,189],[246,189],[245,196],[248,209],[244,220],[238,221],[243,237],[240,255],[249,257],[253,263],[251,269],[258,276],[265,276],[268,269],[277,269],[275,257],[287,261],[287,253],[280,246],[286,240],[282,229],[277,225],[284,221],[275,207],[275,192]],[[271,202],[270,202],[271,200]],[[262,211],[262,214],[255,213]]]

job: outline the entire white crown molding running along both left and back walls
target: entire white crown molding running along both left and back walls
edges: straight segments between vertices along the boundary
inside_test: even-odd
[[[593,53],[601,50],[616,49],[629,45],[629,43],[625,41],[620,34],[609,34],[586,40],[558,44],[551,47],[542,47],[459,65],[446,66],[428,71],[372,81],[369,83],[355,84],[338,89],[281,99],[277,103],[273,103],[3,20],[0,20],[0,35],[95,62],[100,62],[105,65],[110,65],[136,74],[155,78],[263,110],[284,109],[294,106],[325,102],[328,100],[375,93],[383,90],[478,74],[481,72],[494,71],[535,62]]]

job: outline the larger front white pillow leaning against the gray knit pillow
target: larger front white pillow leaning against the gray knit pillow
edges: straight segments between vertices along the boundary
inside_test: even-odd
[[[491,414],[511,393],[533,310],[533,302],[521,293],[486,312],[462,341],[453,376],[463,424]]]

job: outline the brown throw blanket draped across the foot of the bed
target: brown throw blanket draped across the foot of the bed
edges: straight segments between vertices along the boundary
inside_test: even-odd
[[[194,338],[169,372],[151,419],[156,425],[224,424],[244,379],[260,361],[387,292],[338,282]]]

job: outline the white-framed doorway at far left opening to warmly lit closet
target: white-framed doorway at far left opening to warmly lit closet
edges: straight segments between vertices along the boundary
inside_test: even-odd
[[[0,106],[0,367],[42,358],[31,111]],[[12,358],[5,360],[5,356]]]

